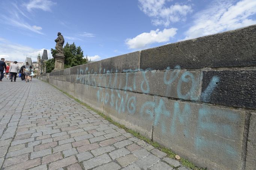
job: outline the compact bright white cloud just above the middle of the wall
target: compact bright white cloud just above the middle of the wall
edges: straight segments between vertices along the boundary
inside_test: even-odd
[[[125,43],[130,49],[142,49],[152,43],[167,42],[170,37],[175,36],[177,28],[164,29],[163,31],[151,30],[149,33],[142,33],[132,39],[126,39]]]

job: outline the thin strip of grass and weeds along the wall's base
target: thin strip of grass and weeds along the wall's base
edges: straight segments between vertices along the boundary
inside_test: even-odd
[[[158,142],[154,142],[152,141],[151,139],[145,137],[145,136],[142,136],[140,133],[134,131],[134,130],[131,130],[131,129],[128,129],[126,128],[124,125],[121,125],[115,121],[113,121],[110,117],[104,115],[102,112],[99,112],[98,110],[96,109],[93,109],[92,107],[90,107],[89,105],[81,102],[80,100],[78,100],[77,98],[73,97],[72,95],[68,94],[67,92],[65,91],[62,91],[61,89],[57,88],[56,86],[52,85],[54,88],[58,89],[59,91],[61,91],[62,93],[66,94],[67,96],[73,98],[75,101],[77,101],[78,103],[82,104],[83,106],[87,107],[87,109],[90,109],[92,110],[93,112],[96,112],[98,115],[102,116],[104,119],[106,119],[107,121],[109,121],[111,124],[114,124],[116,125],[117,127],[119,128],[122,128],[124,129],[126,132],[132,134],[134,137],[137,137],[141,140],[144,140],[145,142],[149,143],[150,145],[154,146],[154,148],[157,148],[159,149],[160,151],[164,152],[167,154],[167,156],[169,158],[172,158],[172,159],[175,159],[175,153],[172,152],[170,149],[168,148],[165,148],[163,146],[161,146]],[[176,160],[176,159],[175,159]],[[190,161],[188,160],[185,160],[184,158],[181,158],[180,160],[177,160],[179,162],[181,162],[181,164],[185,167],[188,167],[190,169],[193,169],[193,170],[206,170],[205,168],[200,168],[200,167],[197,167],[195,166],[193,163],[191,163]],[[175,169],[175,168],[174,168]]]

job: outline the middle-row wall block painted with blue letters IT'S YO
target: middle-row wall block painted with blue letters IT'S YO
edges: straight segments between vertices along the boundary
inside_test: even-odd
[[[168,69],[164,72],[115,73],[112,84],[116,89],[185,100],[198,100],[199,82],[200,71]]]

